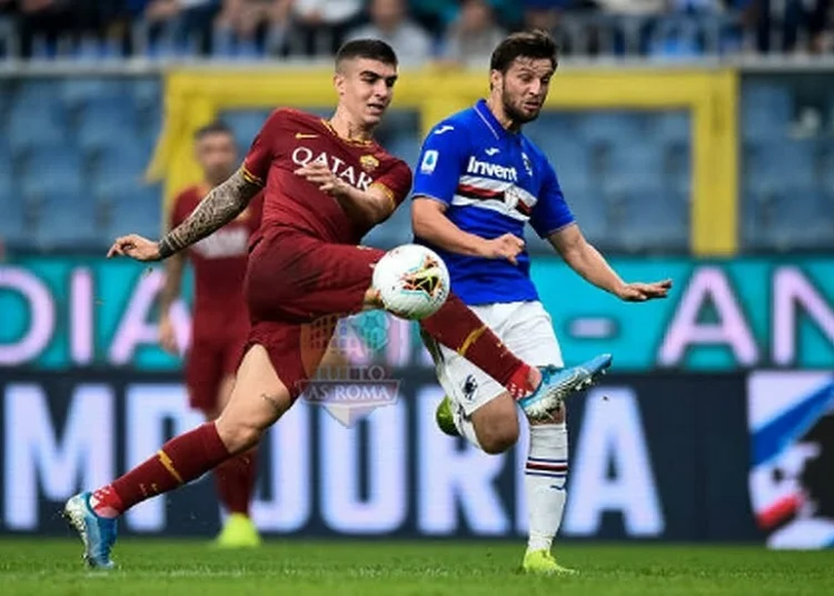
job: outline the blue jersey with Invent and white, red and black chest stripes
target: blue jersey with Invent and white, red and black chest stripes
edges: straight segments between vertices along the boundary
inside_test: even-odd
[[[493,239],[524,238],[530,222],[546,238],[574,222],[556,172],[524,135],[506,130],[480,100],[438,123],[423,143],[414,196],[438,200],[461,230]],[[470,257],[439,249],[451,289],[468,305],[537,300],[525,250],[518,265],[506,259]]]

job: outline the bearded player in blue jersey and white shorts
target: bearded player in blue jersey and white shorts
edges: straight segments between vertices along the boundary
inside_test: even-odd
[[[489,97],[439,122],[424,141],[414,180],[416,240],[446,261],[453,290],[519,357],[562,368],[549,315],[529,277],[524,226],[530,222],[583,278],[623,300],[664,298],[671,280],[626,284],[584,238],[553,166],[520,131],[538,117],[557,66],[557,48],[543,31],[514,33],[490,60]],[[516,403],[493,378],[428,337],[446,398],[438,421],[488,454],[518,439]],[[590,378],[610,356],[577,367]],[[446,420],[446,425],[443,421]],[[565,407],[532,420],[525,466],[529,538],[527,573],[573,573],[552,555],[565,508],[567,429]]]

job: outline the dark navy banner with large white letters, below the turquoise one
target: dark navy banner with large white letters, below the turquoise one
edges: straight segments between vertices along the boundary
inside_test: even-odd
[[[322,536],[525,534],[516,459],[525,459],[526,448],[487,456],[441,435],[434,421],[441,394],[431,375],[404,371],[401,379],[395,404],[351,428],[302,399],[270,431],[252,509],[259,528]],[[20,372],[0,390],[7,532],[62,533],[57,511],[79,486],[106,481],[200,421],[171,375]],[[744,393],[741,374],[637,375],[608,378],[576,400],[563,536],[761,539],[747,494]],[[90,425],[96,433],[87,433]],[[211,534],[218,511],[210,486],[198,481],[137,507],[123,529]]]

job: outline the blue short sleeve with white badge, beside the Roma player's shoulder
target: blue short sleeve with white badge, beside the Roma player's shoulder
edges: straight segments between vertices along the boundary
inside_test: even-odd
[[[451,203],[464,171],[469,138],[459,125],[440,122],[420,148],[414,173],[414,196]]]

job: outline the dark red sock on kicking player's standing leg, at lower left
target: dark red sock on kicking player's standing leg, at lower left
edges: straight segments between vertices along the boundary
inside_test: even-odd
[[[199,478],[229,458],[215,423],[206,423],[166,443],[153,457],[92,494],[93,510],[115,517],[137,503]]]

